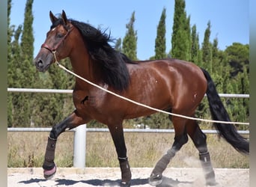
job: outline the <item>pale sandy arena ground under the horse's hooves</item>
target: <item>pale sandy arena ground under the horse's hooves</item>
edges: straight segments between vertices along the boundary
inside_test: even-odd
[[[249,187],[249,169],[214,169],[216,187]],[[152,168],[132,168],[131,186],[150,186],[148,177]],[[201,168],[167,168],[159,186],[204,187]],[[43,178],[42,168],[8,168],[7,184],[10,187],[37,186],[118,186],[120,168],[57,168],[52,180]]]

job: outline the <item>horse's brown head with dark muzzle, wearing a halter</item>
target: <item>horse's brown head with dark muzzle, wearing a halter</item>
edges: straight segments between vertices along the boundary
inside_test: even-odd
[[[53,13],[49,12],[52,26],[46,35],[46,40],[41,46],[37,57],[34,58],[34,64],[39,71],[46,71],[50,64],[66,58],[71,51],[72,44],[68,37],[73,29],[70,21],[67,19],[66,13],[62,10],[61,18],[57,18]]]

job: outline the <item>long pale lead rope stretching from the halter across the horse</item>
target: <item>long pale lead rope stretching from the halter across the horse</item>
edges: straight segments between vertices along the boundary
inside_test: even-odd
[[[140,103],[140,102],[135,102],[135,101],[132,100],[132,99],[128,99],[127,97],[118,95],[117,93],[114,93],[114,92],[109,91],[109,90],[107,90],[107,89],[105,89],[105,88],[102,88],[102,87],[100,87],[99,85],[96,85],[96,84],[94,84],[93,82],[88,81],[87,79],[83,78],[82,76],[79,76],[79,75],[77,75],[76,73],[73,73],[72,71],[68,70],[66,67],[62,66],[62,65],[57,61],[57,58],[56,58],[56,55],[55,55],[56,51],[54,51],[54,52],[52,52],[52,53],[53,53],[53,55],[54,55],[54,57],[55,57],[55,63],[58,65],[58,67],[61,67],[61,69],[65,70],[67,73],[70,73],[70,74],[72,74],[73,76],[76,76],[77,78],[82,79],[84,82],[87,82],[88,84],[93,85],[94,87],[99,88],[99,89],[102,90],[102,91],[106,91],[107,93],[110,93],[110,94],[112,94],[112,95],[114,95],[114,96],[118,96],[119,98],[124,99],[124,100],[126,100],[126,101],[128,101],[128,102],[132,102],[132,103],[135,104],[135,105],[140,105],[140,106],[142,106],[142,107],[144,107],[144,108],[149,108],[150,110],[153,110],[153,111],[159,111],[159,112],[162,112],[162,113],[165,113],[165,114],[170,114],[170,115],[173,115],[173,116],[176,116],[176,117],[183,117],[183,118],[186,118],[186,119],[189,119],[189,120],[200,120],[200,121],[210,122],[210,123],[225,123],[225,124],[234,123],[234,124],[238,124],[238,125],[249,125],[249,123],[244,123],[244,122],[231,122],[231,121],[221,121],[221,120],[204,120],[204,119],[201,119],[201,118],[189,117],[189,116],[185,116],[185,115],[181,115],[181,114],[174,114],[174,113],[171,113],[171,112],[168,112],[168,111],[162,111],[162,110],[160,110],[160,109],[158,109],[158,108],[153,108],[153,107],[151,107],[151,106],[144,105],[144,104],[142,104],[142,103]]]

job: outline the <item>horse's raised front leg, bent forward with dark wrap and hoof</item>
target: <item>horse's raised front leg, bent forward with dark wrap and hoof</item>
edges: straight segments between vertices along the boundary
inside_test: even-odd
[[[65,129],[73,129],[76,126],[86,123],[82,117],[76,115],[76,111],[74,111],[70,116],[66,119],[58,123],[57,125],[52,127],[52,130],[48,137],[48,142],[46,146],[46,153],[44,156],[43,162],[43,176],[48,180],[51,179],[56,173],[56,165],[54,162],[55,158],[55,146],[57,142],[58,136],[61,132],[64,132]]]

